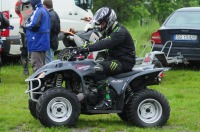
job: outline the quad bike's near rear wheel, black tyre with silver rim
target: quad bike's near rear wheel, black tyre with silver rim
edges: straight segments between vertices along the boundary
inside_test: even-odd
[[[129,123],[139,127],[163,126],[169,119],[169,103],[156,90],[144,89],[136,92],[127,106]]]

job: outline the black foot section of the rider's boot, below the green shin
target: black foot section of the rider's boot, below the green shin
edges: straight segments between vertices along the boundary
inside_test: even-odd
[[[100,103],[98,103],[94,109],[95,110],[106,110],[112,107],[112,100],[102,100]]]

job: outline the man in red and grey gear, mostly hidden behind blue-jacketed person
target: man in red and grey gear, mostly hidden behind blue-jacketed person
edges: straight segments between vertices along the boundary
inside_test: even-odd
[[[27,42],[26,42],[26,31],[25,31],[25,22],[30,17],[32,13],[32,6],[29,0],[17,0],[15,4],[15,12],[20,17],[20,26],[19,33],[21,36],[22,47],[21,50],[21,61],[23,65],[24,75],[29,74],[28,70],[28,51],[27,51]]]

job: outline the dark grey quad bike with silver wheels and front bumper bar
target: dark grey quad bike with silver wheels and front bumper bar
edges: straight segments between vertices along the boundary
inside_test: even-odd
[[[158,74],[166,68],[140,67],[105,77],[94,72],[99,68],[98,61],[79,59],[76,48],[70,54],[68,61],[52,61],[26,79],[29,110],[41,124],[73,126],[80,114],[109,113],[116,113],[123,121],[139,127],[163,126],[167,122],[170,116],[167,99],[147,88],[158,84]],[[96,110],[94,107],[102,101],[105,92],[99,86],[105,82],[110,89],[112,107]]]

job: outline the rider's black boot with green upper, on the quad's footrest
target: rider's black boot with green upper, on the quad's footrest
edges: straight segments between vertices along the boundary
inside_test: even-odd
[[[110,98],[110,90],[109,87],[106,86],[106,94],[105,94],[105,98],[99,102],[94,109],[95,110],[106,110],[112,107],[112,100]]]

